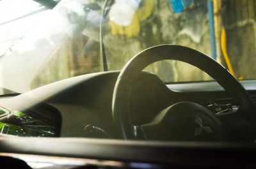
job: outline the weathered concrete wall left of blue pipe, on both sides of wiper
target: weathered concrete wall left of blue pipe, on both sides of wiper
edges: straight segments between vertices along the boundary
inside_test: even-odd
[[[151,2],[151,3],[150,3]],[[136,36],[122,33],[113,34],[109,20],[104,20],[103,34],[109,70],[121,70],[129,59],[145,48],[160,44],[177,44],[195,48],[205,54],[211,53],[207,6],[200,5],[181,13],[173,13],[169,1],[143,1],[136,11],[136,25],[129,29],[140,30]],[[148,10],[147,10],[148,9]],[[140,11],[141,10],[141,11]],[[99,11],[100,13],[100,11]],[[145,15],[143,15],[145,14]],[[72,20],[74,20],[72,16]],[[31,87],[100,71],[99,41],[90,40],[82,31],[86,23],[77,20],[73,36],[67,37],[37,72]],[[74,22],[74,21],[73,21]],[[88,23],[87,23],[88,24]],[[99,31],[99,25],[89,26]],[[125,30],[126,28],[122,28]],[[128,31],[129,31],[128,29]],[[178,61],[161,61],[148,67],[166,82],[209,80],[210,78],[197,68]]]

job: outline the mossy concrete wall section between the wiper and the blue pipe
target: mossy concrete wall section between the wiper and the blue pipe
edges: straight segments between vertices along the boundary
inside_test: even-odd
[[[106,45],[108,61],[113,63],[109,65],[111,69],[120,70],[141,50],[166,43],[195,48],[208,55],[211,53],[207,8],[204,5],[173,13],[166,1],[158,1],[152,15],[142,21],[140,27],[140,34],[133,38],[111,34],[104,37],[106,44],[113,44]],[[116,47],[123,48],[119,50]],[[210,79],[197,68],[179,61],[162,61],[149,66],[147,70],[153,71],[166,82]]]

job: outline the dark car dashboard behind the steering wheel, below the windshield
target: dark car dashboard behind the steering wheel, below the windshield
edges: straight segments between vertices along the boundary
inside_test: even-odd
[[[112,137],[115,133],[111,133],[114,127],[111,105],[118,73],[109,71],[68,78],[12,98],[2,97],[0,105],[9,112],[41,115],[47,121],[55,119],[53,122],[58,124],[56,136]],[[241,83],[255,98],[256,81],[244,80]],[[145,71],[132,86],[129,101],[132,122],[146,124],[163,108],[180,101],[200,103],[216,114],[237,110],[230,94],[214,81],[164,84],[159,77]],[[101,134],[87,132],[90,126],[99,128]]]

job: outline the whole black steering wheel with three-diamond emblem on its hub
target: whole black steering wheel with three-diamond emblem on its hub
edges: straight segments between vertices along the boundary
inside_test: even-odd
[[[166,59],[187,62],[205,71],[236,100],[238,111],[216,115],[198,103],[180,102],[165,108],[149,124],[134,126],[129,112],[132,84],[149,64]],[[225,140],[227,136],[223,135],[234,133],[239,134],[229,140],[255,138],[255,105],[244,87],[211,57],[179,45],[150,47],[127,62],[116,80],[112,111],[118,138],[125,140]]]

